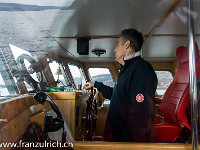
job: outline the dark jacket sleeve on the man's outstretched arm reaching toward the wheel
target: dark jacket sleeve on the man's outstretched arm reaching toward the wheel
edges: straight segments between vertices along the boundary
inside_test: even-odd
[[[106,86],[102,82],[97,82],[97,81],[95,81],[94,87],[97,88],[97,90],[102,93],[103,97],[111,99],[113,93],[112,87]]]

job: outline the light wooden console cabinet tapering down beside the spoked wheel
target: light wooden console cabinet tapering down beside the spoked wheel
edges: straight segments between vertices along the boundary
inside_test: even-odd
[[[89,94],[81,91],[54,92],[50,93],[50,96],[61,110],[72,135],[75,139],[81,140],[83,132],[82,117],[85,114],[86,100]]]

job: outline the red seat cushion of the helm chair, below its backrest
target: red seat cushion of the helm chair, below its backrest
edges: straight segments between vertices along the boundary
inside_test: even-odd
[[[174,142],[181,132],[182,127],[169,120],[156,116],[155,141]]]

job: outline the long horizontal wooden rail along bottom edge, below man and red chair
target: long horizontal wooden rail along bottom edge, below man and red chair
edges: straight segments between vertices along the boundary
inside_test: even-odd
[[[72,142],[75,150],[191,150],[185,143]],[[199,147],[200,149],[200,147]]]

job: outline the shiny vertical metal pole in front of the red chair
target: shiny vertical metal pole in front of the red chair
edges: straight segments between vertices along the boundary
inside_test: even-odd
[[[191,103],[191,132],[192,149],[198,149],[198,119],[197,119],[197,79],[195,64],[195,40],[194,40],[194,21],[192,17],[193,0],[187,0],[188,5],[188,53],[189,53],[189,82],[190,82],[190,103]]]

